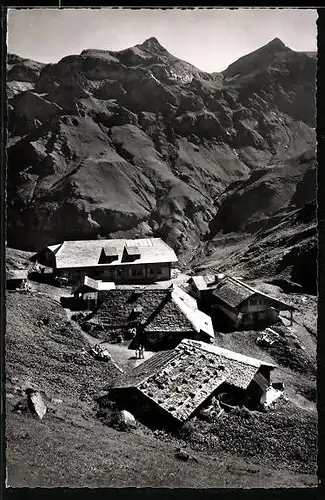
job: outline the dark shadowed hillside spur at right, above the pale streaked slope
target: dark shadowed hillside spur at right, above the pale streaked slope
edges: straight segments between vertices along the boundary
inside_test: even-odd
[[[316,158],[314,151],[307,151],[267,169],[256,169],[247,180],[228,186],[218,199],[210,236],[219,231],[255,233],[280,222],[284,209],[302,208],[315,198]]]

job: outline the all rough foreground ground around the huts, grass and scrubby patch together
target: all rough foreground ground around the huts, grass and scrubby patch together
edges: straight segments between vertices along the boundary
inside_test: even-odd
[[[16,267],[28,262],[26,253],[10,250],[8,254],[11,268],[15,255]],[[264,287],[281,294],[274,286]],[[292,356],[302,368],[309,363],[304,373],[296,364],[282,364],[274,352],[257,346],[256,332],[217,335],[223,347],[279,362],[275,380],[285,382],[286,399],[266,414],[234,412],[213,425],[194,419],[179,434],[170,434],[140,423],[132,432],[123,433],[98,419],[94,397],[103,393],[117,372],[87,352],[97,340],[83,334],[70,320],[71,313],[61,308],[59,298],[68,294],[64,288],[35,282],[30,293],[7,293],[9,485],[249,488],[264,487],[266,482],[271,487],[317,484],[314,297],[285,297],[299,308],[291,332],[305,350],[296,348]],[[135,362],[127,346],[106,347],[124,369]],[[42,420],[25,412],[23,405],[17,406],[25,401],[28,387],[43,395],[48,411]],[[253,443],[258,443],[258,449]],[[195,460],[178,460],[179,447]]]

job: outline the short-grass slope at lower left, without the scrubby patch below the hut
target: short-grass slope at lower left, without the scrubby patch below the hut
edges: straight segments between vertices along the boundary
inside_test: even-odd
[[[49,315],[47,327],[42,319]],[[83,347],[80,332],[67,322],[65,312],[51,297],[37,292],[8,293],[6,432],[11,486],[315,484],[310,469],[298,473],[272,461],[262,466],[259,456],[240,456],[220,448],[210,453],[196,450],[198,463],[179,462],[174,457],[175,447],[184,443],[176,438],[163,442],[141,425],[132,434],[103,426],[96,419],[93,397],[115,372],[83,355]],[[49,411],[43,421],[12,412],[29,385],[44,393]]]

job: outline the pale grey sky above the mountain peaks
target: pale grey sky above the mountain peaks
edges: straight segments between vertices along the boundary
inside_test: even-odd
[[[121,50],[156,37],[204,71],[222,71],[275,37],[316,51],[315,9],[9,9],[8,52],[57,62],[84,49]]]

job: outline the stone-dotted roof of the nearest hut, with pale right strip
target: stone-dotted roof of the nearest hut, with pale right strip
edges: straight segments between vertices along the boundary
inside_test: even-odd
[[[137,388],[185,421],[223,382],[246,389],[260,367],[275,365],[204,342],[185,339],[116,380],[113,389]]]

